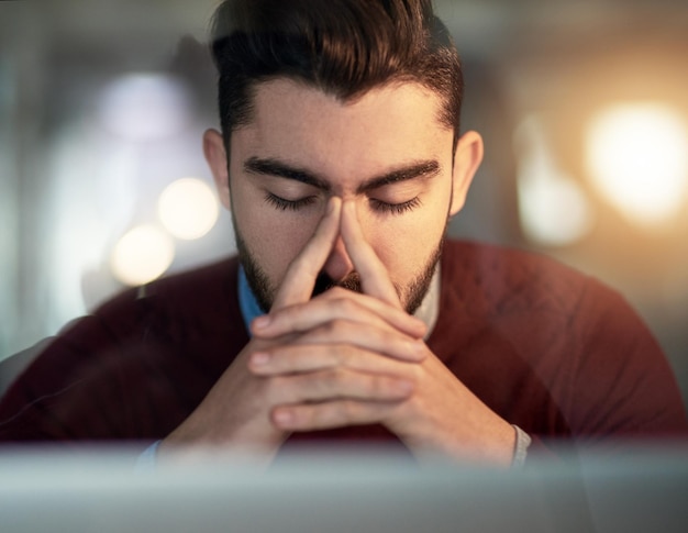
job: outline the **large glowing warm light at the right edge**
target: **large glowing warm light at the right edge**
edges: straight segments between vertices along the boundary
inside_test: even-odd
[[[596,189],[629,220],[670,221],[688,193],[688,133],[681,115],[661,103],[623,103],[588,125],[586,163]]]

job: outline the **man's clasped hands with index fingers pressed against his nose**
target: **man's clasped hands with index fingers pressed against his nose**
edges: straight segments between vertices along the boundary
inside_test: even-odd
[[[363,293],[333,288],[311,298],[340,235]],[[428,348],[425,324],[402,309],[353,202],[330,200],[252,333],[167,444],[202,442],[270,457],[295,431],[381,423],[419,457],[511,460],[513,429]]]

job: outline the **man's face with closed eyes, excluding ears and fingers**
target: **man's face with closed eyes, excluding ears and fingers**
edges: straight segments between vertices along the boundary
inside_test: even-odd
[[[441,100],[415,84],[344,103],[287,79],[257,87],[254,120],[232,133],[229,190],[240,256],[264,309],[331,196],[356,203],[401,303],[409,312],[420,304],[454,212],[453,132],[440,111]],[[323,278],[358,287],[341,238]]]

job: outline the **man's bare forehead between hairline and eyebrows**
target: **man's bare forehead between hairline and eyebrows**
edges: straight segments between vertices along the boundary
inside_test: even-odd
[[[335,180],[365,178],[414,160],[451,155],[442,101],[414,82],[341,101],[290,79],[257,86],[253,120],[232,133],[232,164],[278,158]]]

